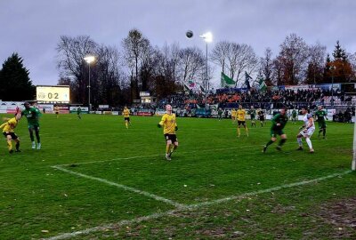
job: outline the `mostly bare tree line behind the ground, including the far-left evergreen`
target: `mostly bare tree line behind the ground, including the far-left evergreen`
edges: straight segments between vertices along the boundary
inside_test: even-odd
[[[56,51],[60,75],[58,84],[70,86],[70,99],[75,103],[88,102],[89,74],[94,107],[99,104],[130,104],[140,98],[140,92],[150,92],[162,99],[182,91],[183,84],[189,81],[204,85],[206,56],[201,49],[181,48],[177,43],[153,46],[135,28],[121,40],[119,47],[98,44],[90,36],[61,36]],[[90,66],[85,62],[88,55],[95,58]],[[332,80],[334,83],[355,82],[356,52],[346,52],[338,41],[330,55],[326,46],[320,43],[308,45],[302,37],[291,34],[279,45],[279,52],[273,55],[271,48],[266,48],[263,57],[258,57],[248,44],[216,43],[208,55],[208,81],[211,82],[214,71],[219,71],[235,80],[236,86],[244,86],[245,72],[263,77],[269,86],[323,84]],[[19,77],[13,69],[16,60],[19,62],[17,68],[22,69]],[[24,83],[30,86],[9,85],[26,86],[33,96],[34,87],[28,78],[28,70],[21,65],[22,60],[17,53],[5,60],[0,70],[0,84],[6,88],[8,83],[17,83],[20,76],[27,74]],[[5,88],[0,91],[0,99],[3,100],[10,98],[4,94]],[[15,100],[13,94],[16,93],[11,96]]]

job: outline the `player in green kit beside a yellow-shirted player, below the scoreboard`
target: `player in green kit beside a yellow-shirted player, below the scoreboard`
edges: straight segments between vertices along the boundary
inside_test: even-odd
[[[41,140],[39,137],[39,119],[38,119],[41,113],[38,108],[30,106],[28,102],[25,102],[24,106],[25,109],[22,110],[21,116],[26,116],[26,118],[28,119],[28,132],[29,132],[29,138],[31,139],[32,142],[32,149],[36,148],[35,138],[33,135],[34,131],[36,134],[37,149],[41,149]]]

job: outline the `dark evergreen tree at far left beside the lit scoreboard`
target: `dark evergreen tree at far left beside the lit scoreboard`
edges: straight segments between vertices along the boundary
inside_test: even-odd
[[[0,70],[1,100],[34,100],[36,87],[29,79],[29,72],[19,54],[14,52],[4,61]]]

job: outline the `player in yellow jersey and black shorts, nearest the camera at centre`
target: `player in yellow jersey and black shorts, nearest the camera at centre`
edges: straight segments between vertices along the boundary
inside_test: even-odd
[[[172,106],[166,105],[166,114],[162,116],[158,127],[163,126],[163,134],[166,139],[166,160],[170,161],[172,153],[178,148],[178,139],[175,131],[178,130],[177,123],[175,122],[175,114],[172,113]]]

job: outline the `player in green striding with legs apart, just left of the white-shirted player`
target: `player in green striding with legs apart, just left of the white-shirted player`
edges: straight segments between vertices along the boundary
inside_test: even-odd
[[[288,117],[286,114],[287,109],[282,108],[279,114],[276,114],[271,119],[271,140],[267,142],[263,147],[263,153],[266,152],[268,146],[270,146],[273,142],[277,140],[277,135],[280,136],[279,145],[277,146],[277,150],[282,149],[282,145],[287,141],[287,135],[283,132],[283,128],[286,126]]]

